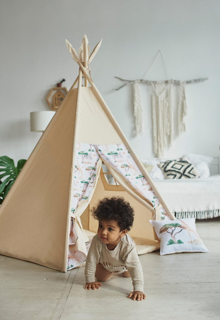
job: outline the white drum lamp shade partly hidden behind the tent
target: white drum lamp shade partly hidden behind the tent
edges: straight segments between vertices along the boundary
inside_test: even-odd
[[[43,132],[56,111],[30,112],[31,131]]]

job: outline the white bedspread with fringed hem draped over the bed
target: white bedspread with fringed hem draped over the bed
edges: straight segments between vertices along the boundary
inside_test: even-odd
[[[154,180],[154,184],[178,219],[220,216],[220,175],[206,179]]]

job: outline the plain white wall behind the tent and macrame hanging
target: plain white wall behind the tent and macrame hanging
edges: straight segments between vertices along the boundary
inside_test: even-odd
[[[219,155],[219,0],[1,0],[0,12],[0,156],[28,158],[41,136],[29,113],[50,110],[45,98],[62,78],[70,88],[78,67],[65,39],[78,51],[84,34],[91,49],[103,38],[91,76],[140,157],[154,156],[150,97],[142,85],[145,133],[134,138],[132,88],[114,91],[114,76],[142,77],[158,50],[173,79],[209,78],[186,86],[186,132],[165,156]],[[166,76],[158,58],[145,78]]]

